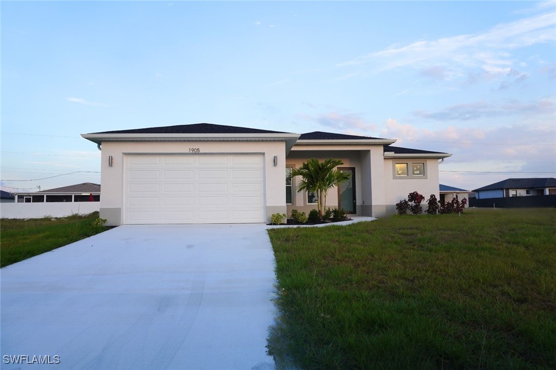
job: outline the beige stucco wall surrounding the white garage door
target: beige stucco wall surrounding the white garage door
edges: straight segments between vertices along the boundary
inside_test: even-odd
[[[285,142],[237,142],[237,141],[152,141],[152,142],[103,142],[101,155],[102,197],[100,212],[112,226],[122,224],[123,217],[123,168],[126,154],[188,154],[189,148],[198,148],[199,153],[261,153],[265,158],[265,206],[267,222],[272,213],[286,212],[285,194]],[[112,167],[108,156],[113,157]],[[274,166],[277,156],[277,166]]]

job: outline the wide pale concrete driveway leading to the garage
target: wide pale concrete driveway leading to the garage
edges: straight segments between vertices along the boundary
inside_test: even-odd
[[[274,368],[264,224],[121,226],[0,274],[2,368]]]

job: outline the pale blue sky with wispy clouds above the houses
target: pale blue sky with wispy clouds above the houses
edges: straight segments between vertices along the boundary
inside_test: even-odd
[[[5,191],[100,183],[82,133],[214,123],[452,153],[440,183],[556,177],[556,2],[9,2]]]

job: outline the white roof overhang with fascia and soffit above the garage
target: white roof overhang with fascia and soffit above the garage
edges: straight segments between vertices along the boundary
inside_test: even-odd
[[[96,144],[103,141],[284,141],[286,154],[294,146],[300,134],[295,133],[252,133],[252,134],[167,134],[167,133],[93,133],[81,137]]]

